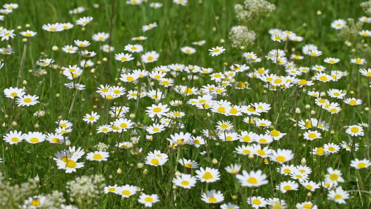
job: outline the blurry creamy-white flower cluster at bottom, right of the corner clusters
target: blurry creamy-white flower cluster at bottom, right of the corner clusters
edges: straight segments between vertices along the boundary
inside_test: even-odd
[[[66,183],[70,202],[75,203],[79,208],[96,205],[104,187],[102,175],[76,177],[75,180]]]

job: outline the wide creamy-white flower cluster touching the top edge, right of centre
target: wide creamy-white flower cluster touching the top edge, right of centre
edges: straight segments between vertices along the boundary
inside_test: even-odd
[[[236,18],[243,25],[249,25],[250,22],[265,17],[273,12],[276,6],[265,0],[245,0],[242,4],[234,5]]]

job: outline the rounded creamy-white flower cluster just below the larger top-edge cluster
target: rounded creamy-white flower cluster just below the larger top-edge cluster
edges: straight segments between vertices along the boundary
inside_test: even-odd
[[[249,30],[247,26],[233,26],[229,32],[229,39],[232,41],[232,47],[250,46],[254,44],[256,34]]]

